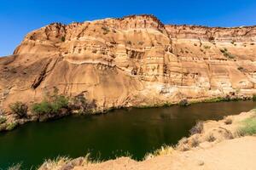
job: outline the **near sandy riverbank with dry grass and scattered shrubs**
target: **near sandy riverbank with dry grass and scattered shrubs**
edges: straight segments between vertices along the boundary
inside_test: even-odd
[[[90,161],[88,156],[74,160],[60,158],[45,161],[39,170],[255,169],[255,120],[256,111],[252,110],[227,116],[221,121],[198,122],[189,138],[181,139],[176,146],[162,147],[148,154],[144,161],[134,161],[130,157],[104,162]]]

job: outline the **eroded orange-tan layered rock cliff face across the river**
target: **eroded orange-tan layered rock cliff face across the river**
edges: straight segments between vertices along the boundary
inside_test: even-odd
[[[256,26],[165,26],[152,15],[44,26],[0,58],[1,105],[57,87],[101,109],[256,93]]]

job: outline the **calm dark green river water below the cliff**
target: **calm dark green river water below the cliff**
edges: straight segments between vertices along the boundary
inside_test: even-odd
[[[23,162],[26,168],[38,167],[47,158],[85,156],[88,152],[101,160],[129,152],[139,160],[163,144],[177,144],[189,135],[197,120],[218,120],[249,111],[255,105],[253,101],[176,105],[32,122],[0,133],[0,167],[5,169],[17,162]]]

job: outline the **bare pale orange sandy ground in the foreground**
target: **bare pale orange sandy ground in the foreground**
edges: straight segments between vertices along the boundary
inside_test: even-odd
[[[255,170],[256,137],[224,140],[208,149],[175,152],[170,156],[157,156],[147,161],[133,161],[121,157],[100,164],[89,164],[74,169],[86,170]]]

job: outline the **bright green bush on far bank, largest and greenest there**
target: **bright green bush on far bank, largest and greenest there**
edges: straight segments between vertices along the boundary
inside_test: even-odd
[[[51,101],[44,99],[41,103],[32,105],[32,112],[38,115],[57,114],[62,108],[68,107],[68,99],[65,96],[54,96]]]

